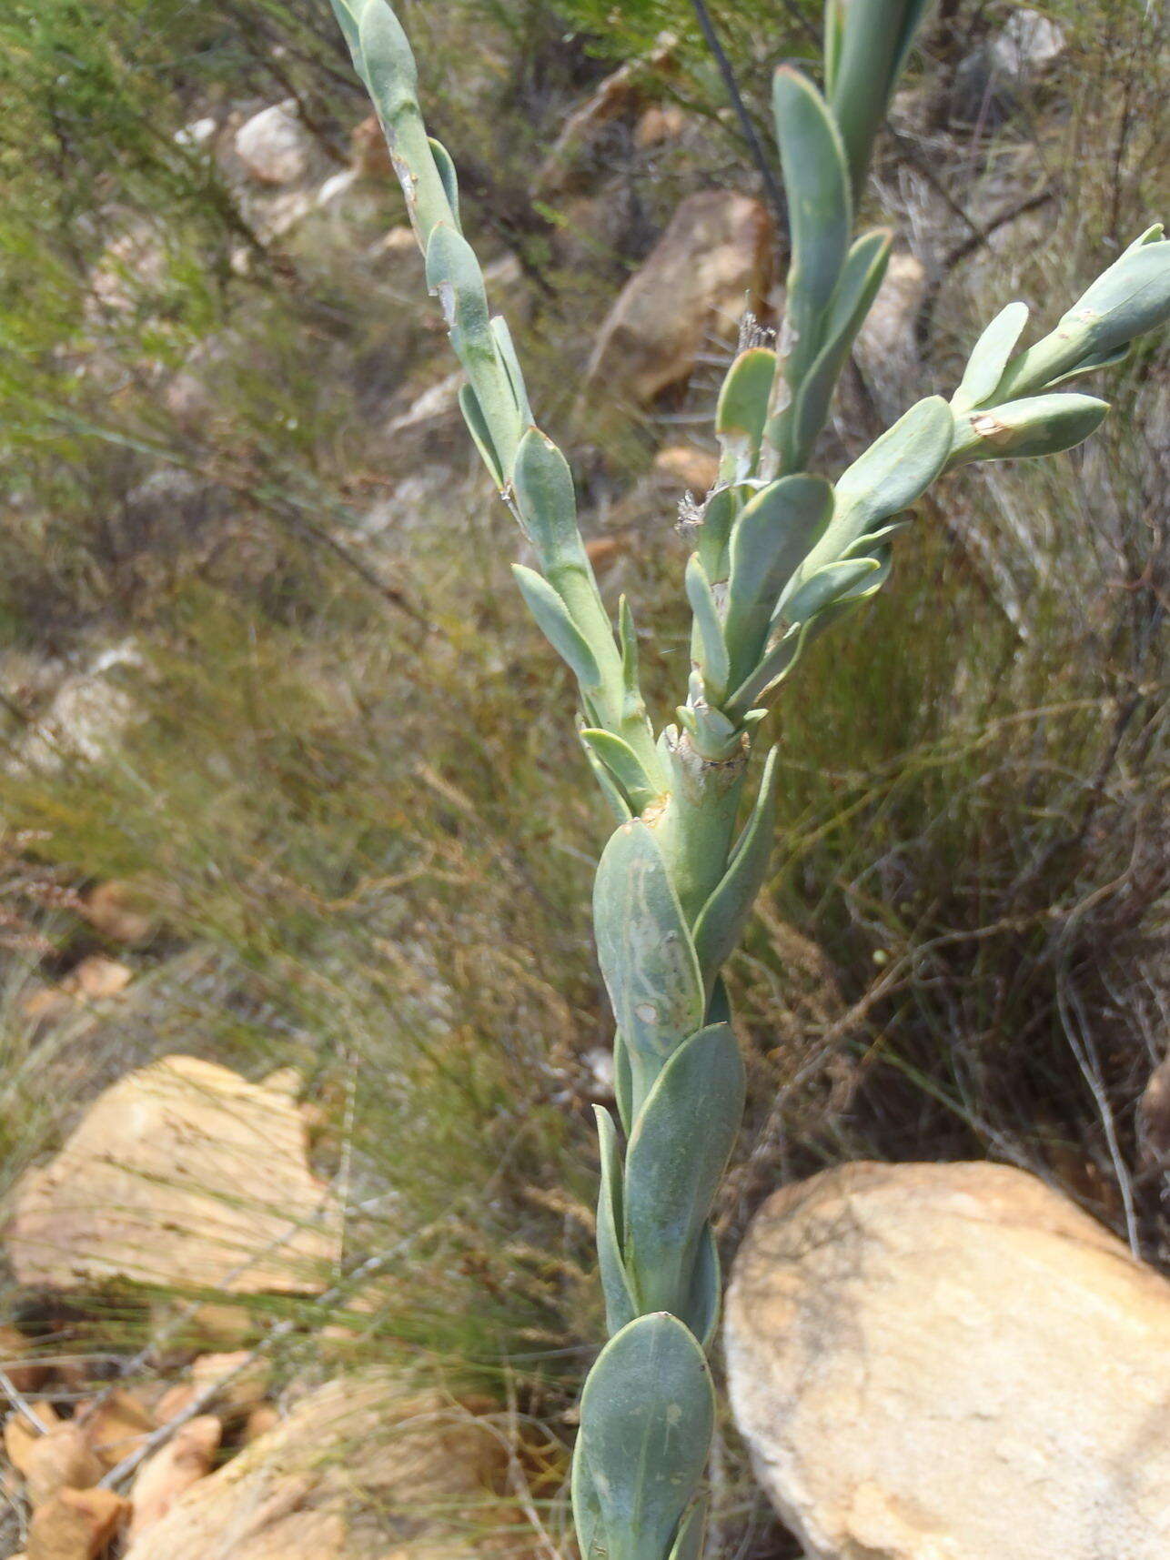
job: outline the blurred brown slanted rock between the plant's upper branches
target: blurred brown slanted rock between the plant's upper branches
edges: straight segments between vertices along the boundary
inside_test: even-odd
[[[685,381],[699,353],[733,335],[768,293],[772,225],[758,200],[690,195],[602,326],[587,382],[608,401],[647,406]]]

